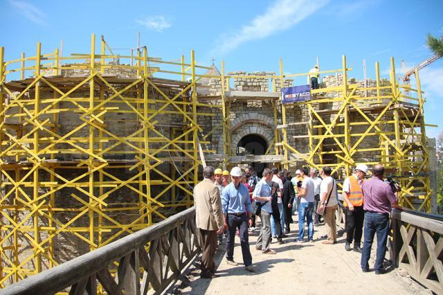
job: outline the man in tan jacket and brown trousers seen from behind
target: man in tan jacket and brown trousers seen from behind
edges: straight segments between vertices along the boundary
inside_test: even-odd
[[[221,213],[221,199],[214,184],[214,168],[206,166],[204,180],[194,188],[195,222],[201,235],[201,278],[215,277],[214,254],[217,249],[217,234],[224,229],[224,217]]]

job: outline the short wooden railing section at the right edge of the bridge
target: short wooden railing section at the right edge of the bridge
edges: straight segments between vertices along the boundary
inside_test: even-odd
[[[396,267],[443,294],[443,216],[392,209],[392,257]]]

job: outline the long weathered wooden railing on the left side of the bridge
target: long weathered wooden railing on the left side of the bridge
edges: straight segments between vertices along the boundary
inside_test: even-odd
[[[195,207],[48,269],[0,294],[162,292],[199,253]],[[113,276],[113,273],[116,273]]]

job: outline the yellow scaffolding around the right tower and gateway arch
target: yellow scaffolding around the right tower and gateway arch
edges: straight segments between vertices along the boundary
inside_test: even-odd
[[[213,78],[221,79],[225,162],[235,165],[230,158],[235,151],[228,137],[231,136],[230,106],[235,100],[226,94],[230,90],[229,80],[271,79],[269,89],[275,92],[284,87],[287,79],[309,76],[309,73],[284,75],[282,60],[277,74],[226,75],[224,69],[225,64],[221,62],[221,75]],[[284,168],[300,167],[300,161],[318,169],[331,166],[341,179],[352,173],[356,163],[368,166],[382,163],[386,177],[392,177],[401,185],[399,204],[429,212],[432,191],[425,127],[434,125],[424,122],[425,99],[418,72],[415,73],[417,89],[413,89],[410,84],[397,82],[393,58],[388,80],[380,78],[378,62],[372,84],[368,84],[368,80],[364,84],[355,82],[349,78],[348,71],[352,69],[347,67],[343,55],[341,69],[320,71],[320,74],[335,73],[335,84],[323,84],[320,89],[312,90],[311,100],[284,105],[281,96],[280,100],[270,99],[276,128],[273,143],[265,154],[280,155],[282,161],[274,165]],[[302,108],[307,120],[300,122],[300,118],[293,116],[293,107]],[[281,125],[277,125],[278,120]],[[291,138],[292,129],[303,125],[305,131]]]

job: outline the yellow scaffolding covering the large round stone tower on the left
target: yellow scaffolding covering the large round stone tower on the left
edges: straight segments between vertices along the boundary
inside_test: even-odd
[[[221,111],[197,102],[209,68],[106,48],[92,35],[87,54],[38,43],[5,61],[0,47],[0,287],[192,206],[198,136]]]

